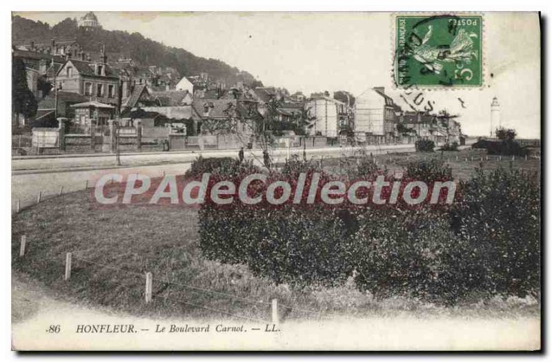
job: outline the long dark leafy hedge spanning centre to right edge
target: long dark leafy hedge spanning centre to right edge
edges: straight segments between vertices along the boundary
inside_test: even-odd
[[[215,179],[239,180],[251,171],[250,165],[224,162],[211,170]],[[360,169],[370,174],[366,179],[375,178],[369,163]],[[293,179],[313,171],[321,171],[319,164],[295,161],[268,178]],[[358,178],[359,171],[351,177]],[[451,172],[442,162],[419,162],[406,167],[405,177],[434,182],[450,180]],[[457,195],[450,206],[414,208],[275,208],[239,202],[224,208],[206,202],[199,211],[200,246],[208,258],[245,264],[258,276],[299,287],[340,285],[354,276],[359,289],[375,296],[443,303],[474,292],[524,296],[538,291],[538,178],[480,170],[458,184]]]

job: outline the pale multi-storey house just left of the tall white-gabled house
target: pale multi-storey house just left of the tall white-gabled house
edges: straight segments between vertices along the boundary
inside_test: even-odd
[[[311,133],[326,137],[339,135],[339,113],[344,107],[343,102],[325,95],[317,95],[306,102],[309,117],[315,117]]]

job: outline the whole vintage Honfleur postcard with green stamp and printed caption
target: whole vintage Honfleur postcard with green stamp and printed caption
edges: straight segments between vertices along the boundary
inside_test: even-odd
[[[541,350],[538,12],[11,21],[13,350]]]

